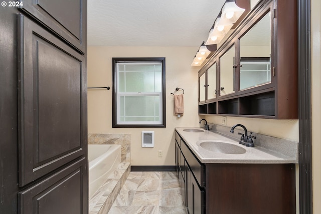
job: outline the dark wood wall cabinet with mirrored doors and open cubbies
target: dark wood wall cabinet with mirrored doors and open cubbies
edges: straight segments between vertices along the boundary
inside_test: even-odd
[[[219,115],[297,119],[296,2],[262,0],[199,73],[214,64],[218,97],[200,100],[199,113],[215,103]]]

